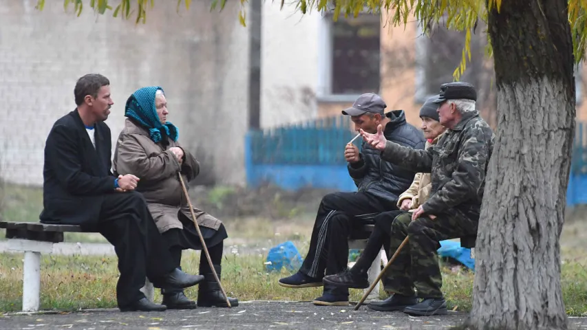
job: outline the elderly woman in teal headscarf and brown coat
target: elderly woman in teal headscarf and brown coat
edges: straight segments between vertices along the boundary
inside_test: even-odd
[[[198,161],[178,142],[178,129],[167,121],[167,100],[161,87],[143,87],[135,91],[125,107],[125,128],[116,143],[113,169],[117,175],[133,173],[139,177],[136,190],[147,200],[157,228],[169,245],[173,262],[181,269],[182,250],[202,250],[189,207],[178,177],[184,182],[200,173]],[[187,186],[187,185],[186,185]],[[228,237],[222,222],[206,212],[194,209],[196,220],[220,278],[223,241]],[[220,285],[202,253],[198,303],[189,300],[183,290],[161,290],[162,304],[168,309],[193,309],[197,306],[228,307]],[[229,298],[232,306],[238,300]]]

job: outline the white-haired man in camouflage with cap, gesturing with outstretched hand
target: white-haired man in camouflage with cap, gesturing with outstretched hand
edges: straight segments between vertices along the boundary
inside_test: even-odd
[[[392,225],[391,251],[397,250],[406,236],[409,243],[386,274],[394,278],[386,288],[394,292],[388,307],[417,316],[447,313],[436,250],[440,248],[439,241],[476,236],[493,151],[493,132],[475,109],[474,87],[447,83],[440,90],[436,100],[440,104],[438,114],[448,130],[433,148],[423,151],[400,146],[385,140],[381,129],[374,134],[361,131],[365,142],[382,151],[382,159],[431,173],[429,199],[414,210],[412,219],[394,221]],[[416,297],[422,298],[420,303]]]

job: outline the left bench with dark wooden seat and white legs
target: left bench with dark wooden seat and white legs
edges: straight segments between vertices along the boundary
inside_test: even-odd
[[[52,253],[55,243],[63,242],[64,232],[83,232],[78,225],[50,225],[34,222],[0,222],[6,229],[8,249],[24,252],[23,311],[39,310],[41,254]],[[153,300],[154,289],[148,279],[141,291]]]

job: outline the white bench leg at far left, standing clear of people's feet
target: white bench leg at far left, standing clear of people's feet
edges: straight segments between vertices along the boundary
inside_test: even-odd
[[[41,252],[25,252],[23,270],[23,311],[39,310]]]

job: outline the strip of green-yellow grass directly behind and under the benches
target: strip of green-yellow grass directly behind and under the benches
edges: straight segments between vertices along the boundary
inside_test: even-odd
[[[22,254],[1,254],[0,311],[19,311],[22,306]],[[197,274],[200,254],[186,252],[182,267]],[[287,289],[277,280],[290,272],[268,273],[264,256],[235,254],[224,256],[222,284],[230,296],[239,300],[301,300],[311,301],[321,295],[322,288]],[[116,308],[116,269],[114,256],[43,256],[41,261],[41,309],[75,311],[90,308]],[[442,287],[449,309],[469,311],[473,291],[473,274],[442,267]],[[587,312],[587,270],[579,263],[562,267],[564,303],[569,316]],[[383,291],[380,298],[386,298]],[[156,289],[155,301],[161,296]],[[350,299],[359,301],[363,290],[351,289]],[[186,289],[186,296],[197,298],[197,287]]]

